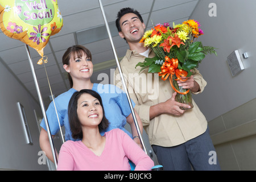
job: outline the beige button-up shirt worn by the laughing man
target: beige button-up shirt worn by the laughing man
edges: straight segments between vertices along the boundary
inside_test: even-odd
[[[154,52],[151,51],[148,57],[154,57]],[[148,69],[139,73],[141,67],[135,69],[135,65],[143,62],[144,59],[145,57],[137,51],[127,50],[120,65],[130,98],[136,104],[134,108],[141,117],[150,144],[172,147],[203,134],[207,129],[207,120],[195,101],[193,101],[193,109],[185,111],[179,117],[161,114],[150,120],[150,106],[167,101],[172,97],[174,90],[170,82],[163,81],[157,73],[148,73]],[[203,92],[207,82],[199,71],[193,73],[193,78],[200,86],[200,91],[193,94]],[[115,70],[114,84],[122,88],[118,69]]]

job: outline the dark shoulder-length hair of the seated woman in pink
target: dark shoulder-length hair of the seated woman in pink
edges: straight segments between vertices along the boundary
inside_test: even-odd
[[[105,111],[104,111],[104,107],[102,105],[101,96],[93,90],[82,89],[82,90],[80,90],[80,92],[73,93],[71,99],[69,100],[69,104],[68,104],[68,120],[69,120],[72,137],[74,139],[82,139],[82,127],[81,127],[81,123],[79,121],[79,117],[77,115],[77,101],[79,100],[79,98],[82,94],[86,94],[86,93],[90,94],[91,96],[97,98],[98,101],[100,101],[100,105],[102,107],[102,113],[103,113],[101,123],[98,125],[98,129],[100,130],[100,132],[109,127],[109,121],[105,117]]]

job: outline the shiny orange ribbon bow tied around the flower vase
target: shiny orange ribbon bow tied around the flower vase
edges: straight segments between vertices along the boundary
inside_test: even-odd
[[[167,80],[167,78],[170,76],[170,84],[172,86],[172,88],[175,90],[175,92],[180,93],[180,94],[187,94],[189,92],[189,89],[186,92],[179,92],[179,90],[177,90],[174,85],[172,84],[172,76],[176,75],[177,80],[181,80],[181,81],[186,81],[187,78],[185,78],[185,80],[181,79],[181,76],[186,77],[188,75],[188,73],[186,71],[184,71],[183,69],[177,69],[178,65],[179,65],[179,61],[177,59],[170,59],[170,57],[166,56],[165,57],[166,61],[163,63],[162,67],[161,67],[161,72],[158,73],[159,76],[162,76],[162,80]]]

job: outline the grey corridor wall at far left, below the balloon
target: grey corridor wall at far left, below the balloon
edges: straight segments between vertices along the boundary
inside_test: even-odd
[[[41,149],[34,109],[38,115],[42,115],[39,104],[1,62],[0,77],[0,169],[48,170],[47,165],[38,164],[38,152]],[[17,102],[24,106],[32,145],[26,144]]]

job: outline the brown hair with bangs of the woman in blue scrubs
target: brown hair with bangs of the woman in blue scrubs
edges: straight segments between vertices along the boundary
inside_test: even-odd
[[[92,54],[90,53],[89,49],[85,48],[84,46],[76,45],[76,46],[69,47],[62,57],[63,65],[64,64],[69,65],[69,60],[71,59],[71,56],[73,56],[73,59],[75,59],[76,55],[78,57],[82,57],[82,55],[84,53],[86,54],[86,56],[88,56],[90,59],[92,59]],[[73,80],[69,73],[68,73],[68,80],[69,80],[69,85],[72,88]]]

